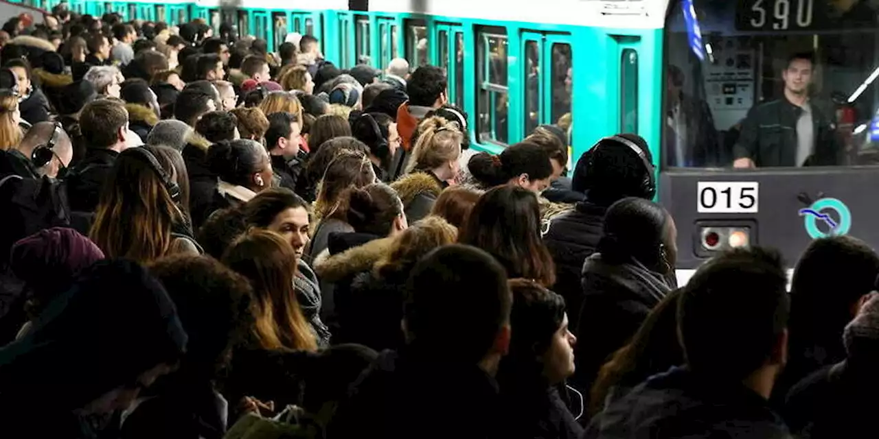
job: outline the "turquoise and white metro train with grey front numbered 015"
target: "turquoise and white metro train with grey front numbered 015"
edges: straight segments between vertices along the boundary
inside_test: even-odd
[[[33,1],[40,7],[56,3]],[[838,44],[851,37],[833,24],[834,11],[828,10],[854,4],[873,12],[875,3],[370,0],[368,11],[351,11],[345,0],[244,0],[234,7],[223,7],[216,0],[162,4],[71,0],[70,7],[92,15],[117,11],[128,19],[169,23],[200,17],[215,28],[226,21],[236,25],[240,34],[267,40],[270,50],[284,41],[287,32],[312,33],[321,40],[326,59],[344,68],[358,62],[384,68],[397,56],[407,58],[413,67],[444,66],[449,100],[469,114],[471,145],[494,153],[505,143],[522,139],[537,124],[559,119],[570,124],[572,161],[601,137],[638,133],[650,144],[657,198],[676,219],[677,268],[686,281],[689,272],[710,255],[736,245],[780,248],[792,262],[812,239],[824,235],[850,233],[879,244],[879,228],[872,227],[879,219],[879,205],[874,191],[867,189],[879,186],[875,168],[734,170],[730,157],[696,166],[671,163],[674,134],[668,130],[672,100],[667,85],[674,64],[685,72],[682,86],[710,109],[706,123],[718,136],[727,136],[750,106],[779,97],[777,76],[784,67],[779,59],[786,56],[782,49],[790,47],[777,41],[809,42],[810,49],[831,52],[822,54],[830,61],[825,62],[820,81],[815,81],[825,90],[817,91],[847,94],[859,83],[866,84],[861,101],[852,105],[866,111],[861,109],[856,128],[846,129],[858,134],[870,126],[868,131],[875,129],[879,140],[879,120],[874,124],[871,119],[879,95],[870,86],[879,68],[869,75],[879,65],[879,33],[875,25],[861,25],[857,44]],[[843,55],[832,61],[832,50],[822,45],[834,44],[844,46],[843,52],[860,51],[858,61],[850,63],[857,66],[845,65],[845,60],[840,66],[838,58]],[[572,73],[561,71],[568,68]],[[869,81],[862,81],[867,76]],[[839,108],[836,112],[839,115]],[[730,143],[717,141],[710,147],[721,152],[712,154],[722,156]],[[713,205],[708,205],[712,193]],[[839,203],[822,205],[822,199]],[[809,207],[832,220],[825,221],[827,225],[812,221],[810,226],[813,217],[819,218],[803,213]],[[838,212],[842,208],[847,212]]]

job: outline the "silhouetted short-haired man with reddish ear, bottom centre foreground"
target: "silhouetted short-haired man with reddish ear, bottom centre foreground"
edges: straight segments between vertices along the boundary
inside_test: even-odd
[[[406,346],[386,350],[342,401],[334,438],[486,438],[498,428],[494,375],[510,344],[512,296],[488,253],[447,245],[426,255],[405,287]],[[467,306],[450,300],[467,298]],[[454,411],[454,421],[437,415]]]

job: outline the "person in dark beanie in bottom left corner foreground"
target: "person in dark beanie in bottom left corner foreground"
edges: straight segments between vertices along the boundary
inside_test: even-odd
[[[27,436],[95,437],[88,420],[129,407],[178,365],[187,338],[156,277],[100,261],[0,349],[0,407]]]

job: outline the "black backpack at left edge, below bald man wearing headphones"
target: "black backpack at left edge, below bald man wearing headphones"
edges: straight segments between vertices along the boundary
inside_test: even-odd
[[[46,176],[4,176],[0,179],[0,212],[4,212],[0,252],[6,262],[16,241],[47,228],[70,227],[67,186]]]

